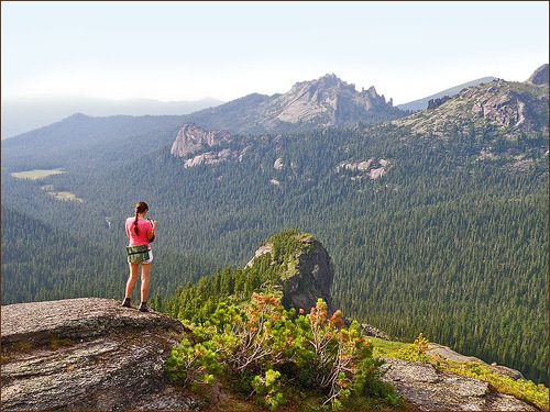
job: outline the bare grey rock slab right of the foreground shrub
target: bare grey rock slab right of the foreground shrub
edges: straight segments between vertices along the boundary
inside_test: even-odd
[[[440,372],[429,364],[384,359],[383,379],[421,411],[536,411],[514,397],[494,392],[487,382]]]

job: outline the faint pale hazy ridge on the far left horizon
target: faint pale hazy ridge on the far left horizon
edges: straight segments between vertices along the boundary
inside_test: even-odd
[[[2,100],[2,140],[58,122],[74,113],[90,116],[187,114],[221,104],[212,98],[196,101],[153,99],[36,98]]]

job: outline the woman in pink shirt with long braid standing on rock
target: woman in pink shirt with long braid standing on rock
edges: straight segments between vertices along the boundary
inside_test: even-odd
[[[122,307],[132,308],[131,298],[134,285],[138,280],[138,272],[141,264],[141,312],[148,312],[147,294],[151,277],[151,263],[153,261],[151,243],[156,237],[156,221],[145,219],[147,212],[147,203],[138,202],[135,204],[134,216],[128,218],[125,223],[127,236],[130,241],[127,247],[130,276],[127,281],[125,297],[122,302]]]

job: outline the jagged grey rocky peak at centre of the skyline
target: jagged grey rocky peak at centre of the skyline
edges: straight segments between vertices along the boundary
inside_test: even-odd
[[[296,82],[285,93],[253,93],[189,115],[212,130],[233,133],[295,132],[311,127],[380,123],[407,113],[374,86],[356,90],[334,74]]]

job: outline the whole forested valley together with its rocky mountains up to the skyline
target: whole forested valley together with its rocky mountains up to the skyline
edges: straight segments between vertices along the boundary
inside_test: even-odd
[[[348,105],[324,104],[339,96]],[[351,318],[548,382],[548,86],[496,80],[407,114],[327,76],[2,142],[2,302],[121,298],[123,222],[143,199],[160,221],[160,308],[296,227],[331,250],[334,304]],[[11,176],[54,167],[66,172]]]

